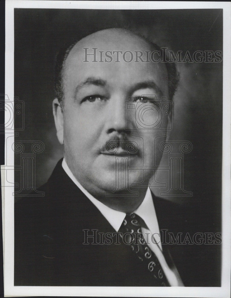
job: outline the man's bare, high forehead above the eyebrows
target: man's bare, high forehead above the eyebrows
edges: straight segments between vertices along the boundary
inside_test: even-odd
[[[104,30],[89,35],[71,49],[65,61],[64,89],[72,89],[88,77],[100,77],[109,85],[120,89],[141,83],[142,80],[154,80],[163,93],[167,93],[165,63],[141,62],[139,59],[135,62],[136,55],[142,55],[142,59],[146,61],[147,52],[154,50],[156,49],[143,38],[128,31]],[[93,54],[94,51],[95,56],[88,55],[86,59],[86,53]],[[127,51],[132,52],[131,62],[126,62],[132,57]],[[107,55],[112,57],[112,61]],[[93,62],[94,58],[97,62]],[[88,62],[84,62],[86,60]]]

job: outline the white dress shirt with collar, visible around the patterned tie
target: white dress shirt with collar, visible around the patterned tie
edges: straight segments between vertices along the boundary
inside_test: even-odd
[[[71,170],[69,169],[65,159],[63,159],[62,166],[64,171],[67,175],[71,178],[71,180],[79,187],[79,189],[88,197],[88,199],[99,209],[102,215],[107,219],[111,226],[118,232],[121,224],[124,221],[126,213],[111,209],[107,207],[96,198],[94,198],[90,193],[88,193],[85,188],[77,181],[77,179],[72,174]],[[162,253],[161,241],[160,241],[160,231],[157,222],[156,212],[152,200],[151,190],[148,187],[146,191],[146,195],[144,197],[143,202],[141,205],[134,211],[137,215],[139,215],[145,224],[147,225],[148,229],[142,227],[142,234],[144,239],[146,240],[149,248],[155,253],[157,256],[161,267],[166,275],[166,278],[171,286],[184,286],[180,275],[174,266],[173,268],[169,268],[168,264],[166,263],[165,257]],[[155,233],[155,234],[154,234]],[[154,241],[151,241],[151,235],[154,234]],[[159,234],[159,235],[157,235]],[[148,240],[148,241],[147,241]]]

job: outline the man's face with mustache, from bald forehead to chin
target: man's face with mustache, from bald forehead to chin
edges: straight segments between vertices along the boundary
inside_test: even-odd
[[[158,117],[150,109],[147,98],[155,94],[158,100],[168,97],[168,84],[163,77],[167,71],[164,63],[152,62],[92,62],[85,60],[84,47],[92,53],[99,51],[152,51],[153,48],[141,38],[121,30],[96,32],[79,41],[68,55],[64,70],[64,154],[66,162],[77,180],[93,195],[115,189],[115,154],[109,153],[106,145],[114,141],[116,154],[126,154],[126,144],[138,144],[138,150],[129,155],[129,166],[154,165],[160,162],[161,154],[155,152],[153,133],[135,131],[135,110],[126,111],[129,97],[137,97],[135,105],[149,105],[143,115],[148,125]],[[104,57],[104,56],[103,56]],[[104,58],[103,58],[104,59]],[[129,60],[129,56],[126,56]],[[149,95],[143,97],[141,95]],[[167,121],[163,120],[163,126]],[[132,131],[135,134],[132,134]],[[163,136],[163,134],[162,134]],[[163,139],[162,139],[163,140]],[[135,143],[134,143],[135,142]],[[119,157],[120,159],[120,157]],[[120,173],[124,169],[119,169]],[[153,175],[152,170],[129,170],[129,185],[144,181]],[[118,189],[119,191],[119,189]]]

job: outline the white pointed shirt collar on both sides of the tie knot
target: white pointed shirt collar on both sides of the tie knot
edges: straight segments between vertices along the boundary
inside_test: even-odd
[[[65,158],[63,158],[62,167],[67,175],[71,178],[71,180],[79,187],[79,189],[88,197],[88,199],[99,209],[102,215],[107,219],[110,225],[118,232],[123,220],[126,216],[125,212],[117,211],[107,207],[96,198],[94,198],[84,187],[79,183],[79,181],[74,177],[71,170],[69,169]],[[151,232],[159,232],[157,217],[155,213],[155,208],[152,200],[151,190],[147,189],[146,195],[144,197],[141,205],[134,211],[137,215],[139,215],[148,226]]]

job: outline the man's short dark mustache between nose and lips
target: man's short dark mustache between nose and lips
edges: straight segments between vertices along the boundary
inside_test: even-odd
[[[108,139],[102,146],[101,153],[104,154],[138,154],[139,146],[134,140],[131,140],[126,135],[117,135]]]

